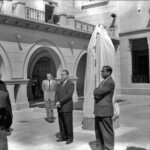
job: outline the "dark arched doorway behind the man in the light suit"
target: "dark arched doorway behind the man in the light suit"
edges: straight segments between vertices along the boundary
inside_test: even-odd
[[[32,65],[32,64],[31,64]],[[56,66],[52,58],[50,57],[41,57],[39,58],[34,66],[30,79],[30,91],[28,93],[29,101],[32,99],[33,101],[43,99],[43,91],[42,91],[42,82],[46,79],[46,74],[51,73],[52,76],[56,77]],[[32,97],[32,98],[31,98]]]

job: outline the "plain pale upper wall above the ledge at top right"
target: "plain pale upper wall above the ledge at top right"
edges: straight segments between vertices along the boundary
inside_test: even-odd
[[[120,32],[143,29],[150,19],[149,1],[120,1]]]

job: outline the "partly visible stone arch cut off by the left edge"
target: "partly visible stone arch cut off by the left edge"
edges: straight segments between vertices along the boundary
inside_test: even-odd
[[[0,69],[2,70],[2,80],[11,79],[12,68],[9,61],[9,57],[4,47],[0,44]]]

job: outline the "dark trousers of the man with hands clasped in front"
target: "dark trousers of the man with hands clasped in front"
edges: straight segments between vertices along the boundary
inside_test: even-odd
[[[58,121],[61,138],[73,141],[72,112],[58,112]]]

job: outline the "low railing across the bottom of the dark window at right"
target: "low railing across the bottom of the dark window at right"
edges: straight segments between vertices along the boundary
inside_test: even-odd
[[[149,83],[148,75],[133,75],[132,83]]]

